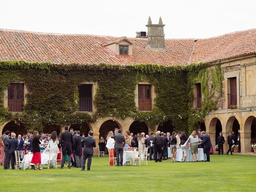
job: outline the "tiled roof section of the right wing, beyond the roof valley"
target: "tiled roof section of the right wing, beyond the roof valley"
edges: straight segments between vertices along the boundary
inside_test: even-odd
[[[191,62],[214,62],[256,53],[256,29],[199,39]]]

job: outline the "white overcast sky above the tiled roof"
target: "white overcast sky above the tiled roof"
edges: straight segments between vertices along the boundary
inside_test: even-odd
[[[256,28],[256,0],[0,0],[0,28],[135,37],[162,17],[166,38]]]

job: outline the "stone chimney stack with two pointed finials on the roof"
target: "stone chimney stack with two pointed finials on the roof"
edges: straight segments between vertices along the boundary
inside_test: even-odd
[[[149,51],[164,51],[164,26],[162,18],[159,18],[158,24],[152,24],[151,18],[148,18],[148,45],[146,49]]]

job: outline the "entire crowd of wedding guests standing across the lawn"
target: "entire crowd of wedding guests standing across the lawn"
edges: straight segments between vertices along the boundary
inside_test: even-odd
[[[16,136],[14,132],[6,131],[3,136],[0,137],[0,164],[4,164],[4,169],[14,169],[15,155],[14,151],[24,151],[24,154],[33,152],[31,160],[32,164],[37,165],[39,170],[41,167],[41,153],[45,150],[55,150],[57,153],[57,160],[61,161],[61,169],[64,168],[64,164],[68,168],[77,167],[85,170],[86,159],[88,158],[87,170],[90,170],[92,162],[93,148],[96,147],[96,141],[92,137],[93,132],[88,133],[88,137],[85,135],[80,136],[80,131],[74,131],[68,127],[65,127],[65,132],[57,135],[56,131],[51,134],[41,134],[38,131],[32,132],[29,130],[27,134]],[[237,141],[240,141],[240,135],[236,137],[232,132],[229,133],[227,143],[229,145],[229,152],[232,155],[232,145]],[[218,154],[223,154],[223,144],[225,139],[220,132],[220,136],[217,138]],[[190,144],[190,146],[188,146]],[[148,148],[148,160],[152,160],[154,157],[155,162],[161,162],[168,159],[168,147],[170,147],[172,162],[176,162],[176,150],[182,150],[182,162],[186,161],[187,148],[190,147],[193,162],[198,162],[198,148],[203,148],[206,153],[207,161],[210,161],[210,148],[212,147],[210,137],[202,130],[192,131],[190,136],[186,136],[186,132],[150,132],[150,136],[145,135],[144,132],[134,135],[132,132],[126,130],[124,135],[122,130],[115,128],[114,132],[110,131],[104,140],[103,136],[100,136],[98,142],[99,151],[105,151],[105,148],[114,149],[114,156],[117,158],[117,165],[122,166],[123,150],[124,148],[139,148],[140,152],[144,153],[144,148]],[[74,159],[72,158],[72,155]],[[111,162],[113,164],[113,162]],[[34,166],[36,170],[36,166]]]

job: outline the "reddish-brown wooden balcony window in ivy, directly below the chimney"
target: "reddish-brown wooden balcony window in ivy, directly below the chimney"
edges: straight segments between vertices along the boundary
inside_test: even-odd
[[[152,110],[151,85],[138,85],[138,109],[140,111]]]

